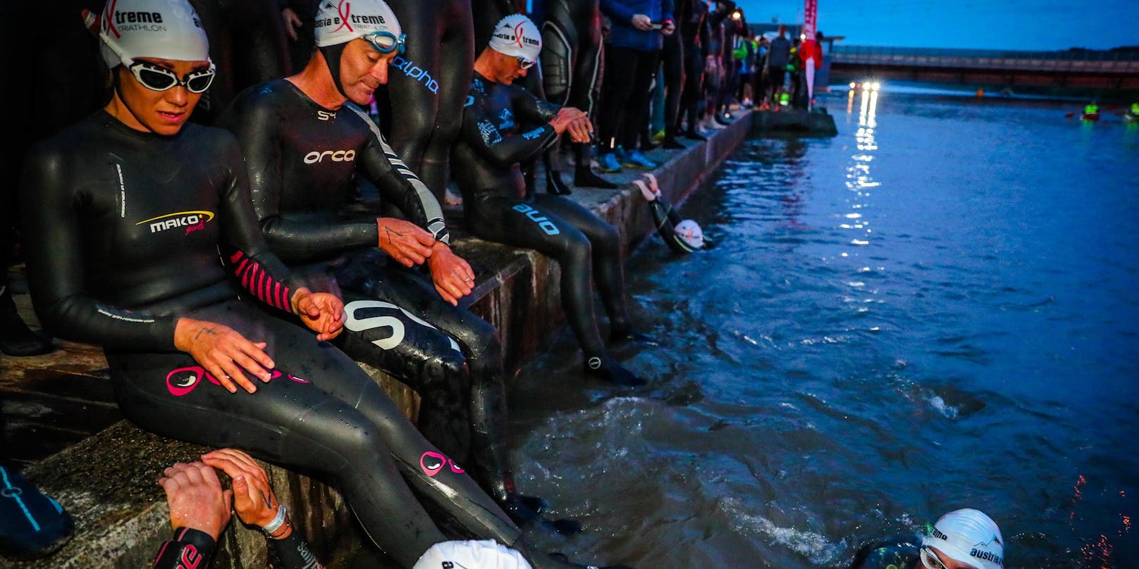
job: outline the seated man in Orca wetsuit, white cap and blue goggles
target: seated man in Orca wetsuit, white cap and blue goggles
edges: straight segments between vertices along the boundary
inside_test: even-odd
[[[334,18],[358,22],[350,30],[329,24]],[[371,49],[343,55],[360,38]],[[392,69],[379,65],[372,73],[372,66],[403,53],[400,22],[382,0],[325,2],[316,39],[318,50],[301,73],[246,90],[223,117],[249,166],[261,229],[314,288],[343,294],[346,331],[337,346],[416,389],[427,439],[461,461],[515,520],[528,521],[544,504],[515,492],[497,331],[457,306],[474,273],[451,251],[435,196],[358,106]],[[357,173],[411,222],[342,218]],[[426,263],[431,280],[387,266],[380,250],[404,266]]]

